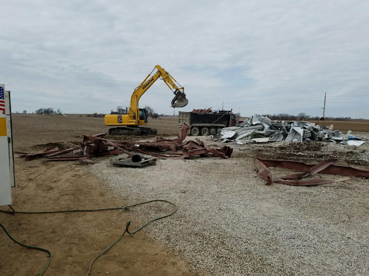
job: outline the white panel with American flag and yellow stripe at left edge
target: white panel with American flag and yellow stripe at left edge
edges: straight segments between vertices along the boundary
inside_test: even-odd
[[[0,93],[5,93],[5,85],[0,84]],[[4,100],[3,100],[4,101]],[[10,188],[10,168],[9,168],[9,145],[6,131],[5,110],[1,110],[4,103],[0,106],[0,205],[11,204],[11,188]],[[6,103],[5,103],[6,106]]]

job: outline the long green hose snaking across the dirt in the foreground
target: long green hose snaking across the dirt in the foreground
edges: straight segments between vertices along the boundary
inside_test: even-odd
[[[132,204],[132,205],[127,205],[127,206],[124,206],[124,207],[114,207],[114,208],[103,208],[103,209],[86,209],[86,210],[58,210],[58,211],[41,211],[41,212],[25,212],[25,211],[15,211],[13,209],[13,207],[11,205],[8,205],[9,208],[11,209],[11,211],[7,211],[7,210],[0,210],[0,212],[2,213],[6,213],[6,214],[9,214],[9,215],[14,215],[16,213],[20,213],[20,214],[50,214],[50,213],[66,213],[66,212],[95,212],[95,211],[104,211],[104,210],[123,210],[123,211],[129,211],[131,210],[130,207],[134,207],[134,206],[138,206],[138,205],[142,205],[142,204],[147,204],[147,203],[150,203],[150,202],[155,202],[155,201],[162,201],[162,202],[167,202],[173,206],[175,206],[175,209],[173,210],[173,212],[169,213],[169,214],[166,214],[164,216],[161,216],[161,217],[156,217],[155,219],[152,219],[152,220],[149,220],[148,222],[146,222],[144,225],[142,225],[139,229],[133,231],[133,232],[130,232],[128,230],[128,227],[130,227],[130,224],[131,224],[131,221],[128,220],[126,226],[125,226],[125,230],[123,232],[123,234],[117,239],[115,240],[111,245],[109,245],[107,248],[105,248],[99,255],[97,255],[90,263],[90,266],[89,266],[89,270],[87,272],[87,275],[88,276],[90,274],[90,271],[91,271],[91,268],[92,268],[92,265],[93,263],[99,259],[105,252],[107,252],[110,248],[112,248],[116,243],[118,243],[118,241],[120,241],[124,234],[125,233],[128,233],[128,234],[134,234],[136,232],[138,232],[139,230],[141,230],[142,228],[144,228],[146,225],[148,225],[149,223],[151,222],[154,222],[155,220],[158,220],[158,219],[162,219],[164,217],[168,217],[168,216],[171,216],[173,215],[178,207],[176,204],[170,202],[170,201],[167,201],[165,199],[154,199],[154,200],[149,200],[149,201],[145,201],[145,202],[140,202],[140,203],[136,203],[136,204]],[[8,237],[14,241],[14,243],[16,244],[19,244],[19,245],[22,245],[26,248],[30,248],[30,249],[37,249],[37,250],[41,250],[41,251],[45,251],[47,253],[50,254],[49,256],[49,261],[46,263],[46,266],[44,268],[44,270],[42,270],[42,272],[39,274],[39,276],[43,275],[46,271],[46,269],[49,267],[50,265],[50,262],[51,262],[51,258],[52,258],[52,254],[51,254],[51,251],[45,249],[45,248],[41,248],[41,247],[35,247],[35,246],[31,246],[31,245],[27,245],[27,244],[23,244],[23,243],[20,243],[19,241],[15,240],[15,238],[13,238],[10,233],[6,230],[6,228],[4,227],[3,224],[0,223],[0,227],[5,231],[5,233],[8,235]]]

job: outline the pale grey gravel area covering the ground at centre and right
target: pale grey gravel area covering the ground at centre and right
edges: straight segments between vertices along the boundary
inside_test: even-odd
[[[142,168],[98,160],[89,168],[112,194],[130,202],[160,198],[176,203],[175,215],[145,231],[199,275],[369,275],[368,180],[265,186],[253,165],[254,157],[311,163],[338,158],[340,164],[368,168],[366,144],[231,143],[234,153],[227,160],[195,156]],[[271,171],[274,177],[290,172]],[[142,218],[165,213],[165,205],[154,205],[135,208],[135,213]]]

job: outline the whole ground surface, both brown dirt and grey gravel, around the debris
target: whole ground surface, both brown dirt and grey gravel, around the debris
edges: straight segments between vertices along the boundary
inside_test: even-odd
[[[349,128],[353,132],[365,132],[369,125],[339,123],[342,126],[336,127],[333,122],[335,128],[354,127]],[[149,125],[163,137],[179,132],[176,117],[150,120]],[[15,151],[37,151],[79,141],[82,133],[107,130],[103,118],[13,115]],[[224,145],[200,138],[214,147]],[[253,168],[253,159],[260,157],[310,163],[336,158],[339,164],[368,169],[368,142],[359,147],[321,142],[227,145],[234,148],[230,159],[194,156],[138,169],[115,167],[108,164],[108,157],[75,162],[27,162],[16,157],[13,207],[96,209],[156,198],[178,204],[175,215],[125,236],[97,260],[91,275],[368,275],[367,179],[352,177],[313,187],[265,186]],[[273,176],[293,172],[271,171]],[[53,252],[45,275],[85,275],[90,261],[121,235],[128,219],[134,229],[168,210],[154,205],[128,213],[0,213],[0,222],[19,241]],[[20,247],[3,231],[0,240],[1,275],[41,272],[45,252]]]

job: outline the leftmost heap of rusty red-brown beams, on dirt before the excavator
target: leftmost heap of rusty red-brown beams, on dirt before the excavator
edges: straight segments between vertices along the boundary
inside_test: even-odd
[[[59,149],[57,146],[46,149],[46,151],[36,153],[14,152],[19,154],[19,157],[24,157],[26,161],[37,157],[46,157],[46,161],[74,161],[90,159],[91,155],[118,155],[119,149],[108,149],[109,141],[103,139],[105,133],[96,135],[82,135],[80,145],[65,142],[66,148]],[[60,156],[62,154],[72,152],[73,155]]]

